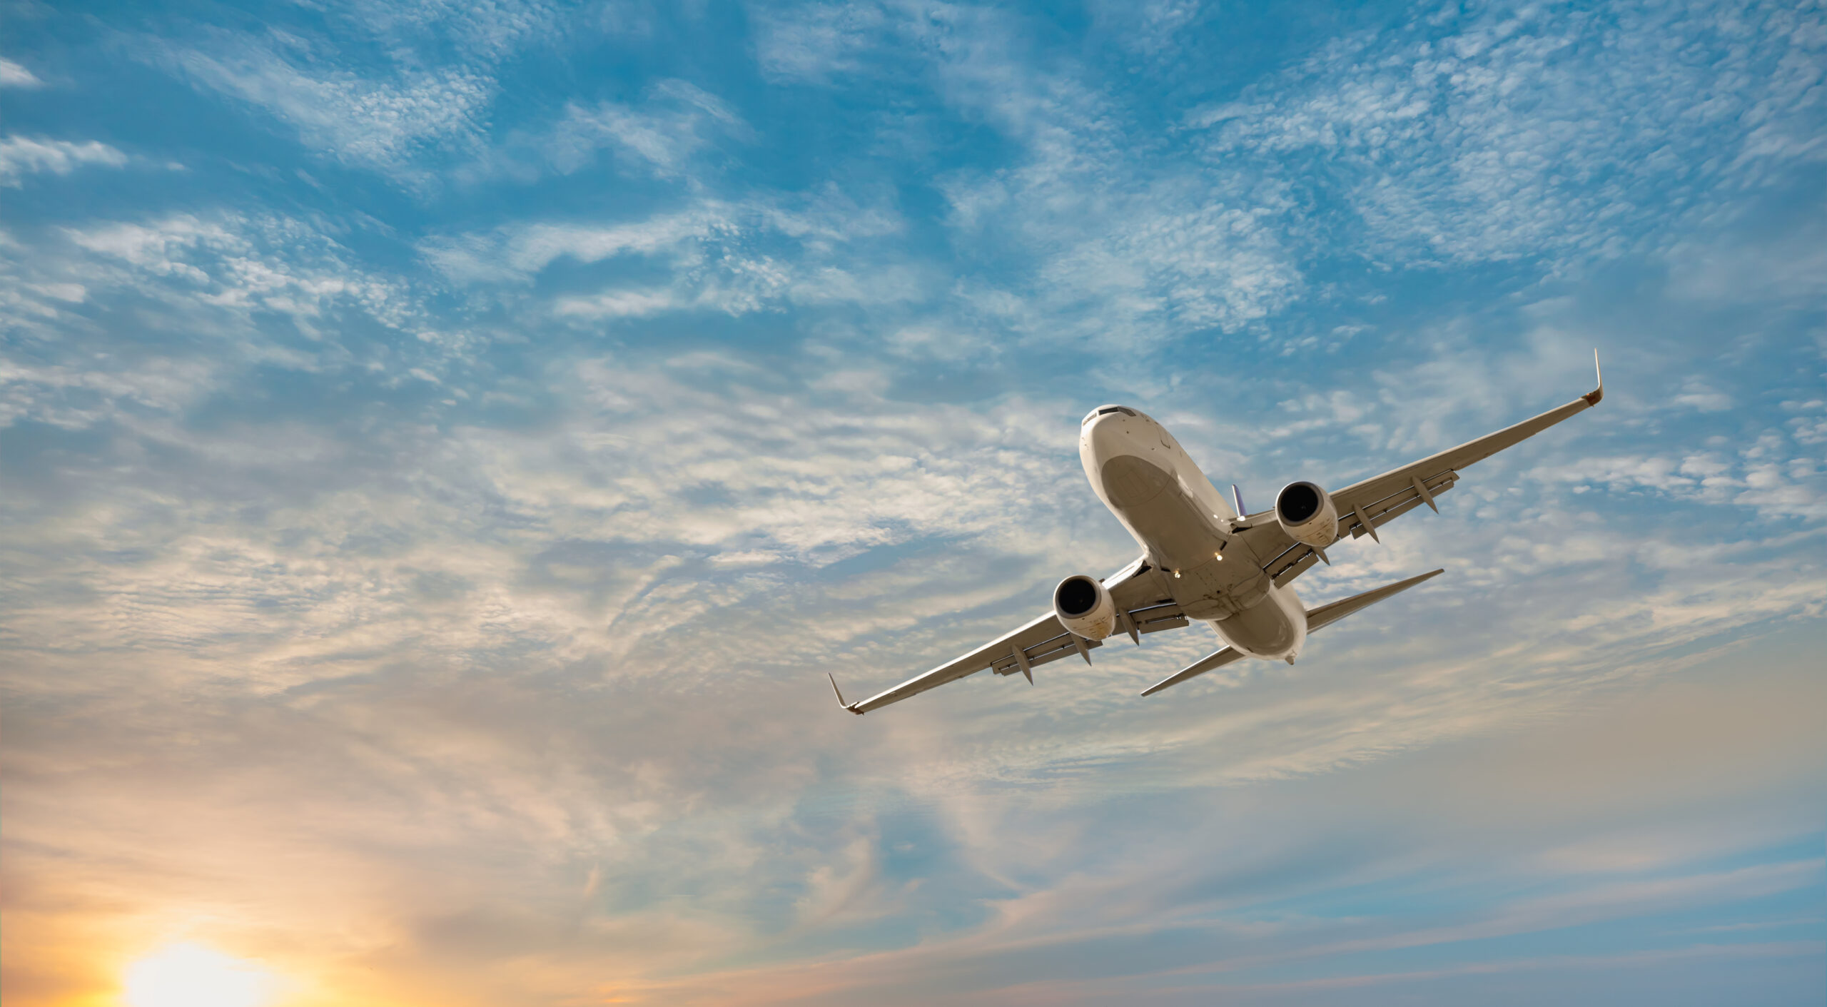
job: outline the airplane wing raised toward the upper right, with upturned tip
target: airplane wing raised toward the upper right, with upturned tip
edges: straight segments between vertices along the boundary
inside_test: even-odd
[[[1597,369],[1597,366],[1599,355],[1593,353],[1593,367]],[[1600,398],[1604,398],[1604,376],[1599,378],[1599,387],[1580,395],[1566,406],[1558,406],[1538,417],[1522,420],[1516,426],[1507,426],[1496,433],[1467,440],[1458,448],[1449,448],[1438,455],[1429,455],[1418,462],[1392,468],[1383,475],[1374,475],[1337,490],[1332,493],[1332,503],[1339,512],[1339,539],[1345,539],[1346,535],[1354,539],[1370,535],[1376,539],[1376,530],[1379,526],[1421,504],[1438,512],[1440,508],[1434,506],[1434,497],[1445,493],[1460,481],[1462,468],[1489,459],[1504,448],[1520,444],[1573,413],[1591,409]],[[1275,521],[1273,510],[1251,514],[1242,525],[1242,539],[1250,543],[1250,548],[1257,557],[1264,559],[1262,570],[1273,578],[1277,585],[1292,581],[1315,561],[1325,559],[1321,550],[1288,537],[1288,534],[1281,530],[1281,523]]]

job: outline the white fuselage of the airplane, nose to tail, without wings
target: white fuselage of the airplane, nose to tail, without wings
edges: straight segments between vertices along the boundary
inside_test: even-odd
[[[1235,535],[1241,515],[1164,426],[1127,406],[1100,406],[1080,426],[1078,459],[1186,618],[1211,623],[1251,658],[1299,656],[1306,609],[1262,572]]]

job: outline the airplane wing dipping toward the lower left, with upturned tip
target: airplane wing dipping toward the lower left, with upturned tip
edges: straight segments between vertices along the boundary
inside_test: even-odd
[[[1173,594],[1160,579],[1160,572],[1149,567],[1147,557],[1140,557],[1104,578],[1104,587],[1111,592],[1111,599],[1116,601],[1118,631],[1129,634],[1138,643],[1144,632],[1160,632],[1186,625],[1186,614],[1175,605]],[[901,685],[866,700],[844,704],[844,693],[837,691],[837,678],[831,678],[831,689],[837,691],[837,702],[844,709],[862,715],[915,696],[926,689],[935,689],[946,682],[957,682],[983,669],[990,669],[996,674],[1021,673],[1032,684],[1034,665],[1056,662],[1071,654],[1080,654],[1085,658],[1085,663],[1091,663],[1091,651],[1102,645],[1102,640],[1085,640],[1074,632],[1067,632],[1060,625],[1060,618],[1049,610],[957,660],[946,662],[924,674],[915,674]]]

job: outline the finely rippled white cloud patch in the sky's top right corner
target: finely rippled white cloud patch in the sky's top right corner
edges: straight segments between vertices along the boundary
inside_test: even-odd
[[[1818,115],[1811,15],[1716,15],[1473,7],[1339,38],[1189,126],[1217,161],[1315,172],[1378,258],[1610,260],[1820,155],[1800,139]],[[1664,42],[1710,58],[1670,60]]]

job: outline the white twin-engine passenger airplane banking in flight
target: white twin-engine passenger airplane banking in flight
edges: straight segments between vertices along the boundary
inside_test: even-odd
[[[1295,578],[1314,563],[1330,565],[1326,548],[1345,537],[1370,535],[1381,543],[1376,530],[1416,506],[1440,514],[1434,501],[1458,484],[1460,470],[1597,406],[1604,398],[1597,351],[1593,373],[1599,387],[1566,406],[1337,492],[1310,481],[1288,482],[1275,493],[1275,506],[1255,514],[1244,512],[1235,484],[1226,501],[1155,419],[1129,406],[1098,406],[1080,422],[1078,459],[1091,490],[1129,530],[1142,556],[1102,579],[1065,578],[1052,590],[1052,610],[893,689],[846,704],[837,676],[826,673],[831,691],[839,705],[864,715],[985,669],[1019,671],[1032,685],[1036,665],[1071,654],[1091,663],[1091,651],[1118,632],[1140,647],[1144,634],[1193,621],[1217,631],[1224,647],[1149,685],[1144,696],[1244,658],[1294,663],[1308,632],[1445,570],[1317,609],[1301,605]]]

